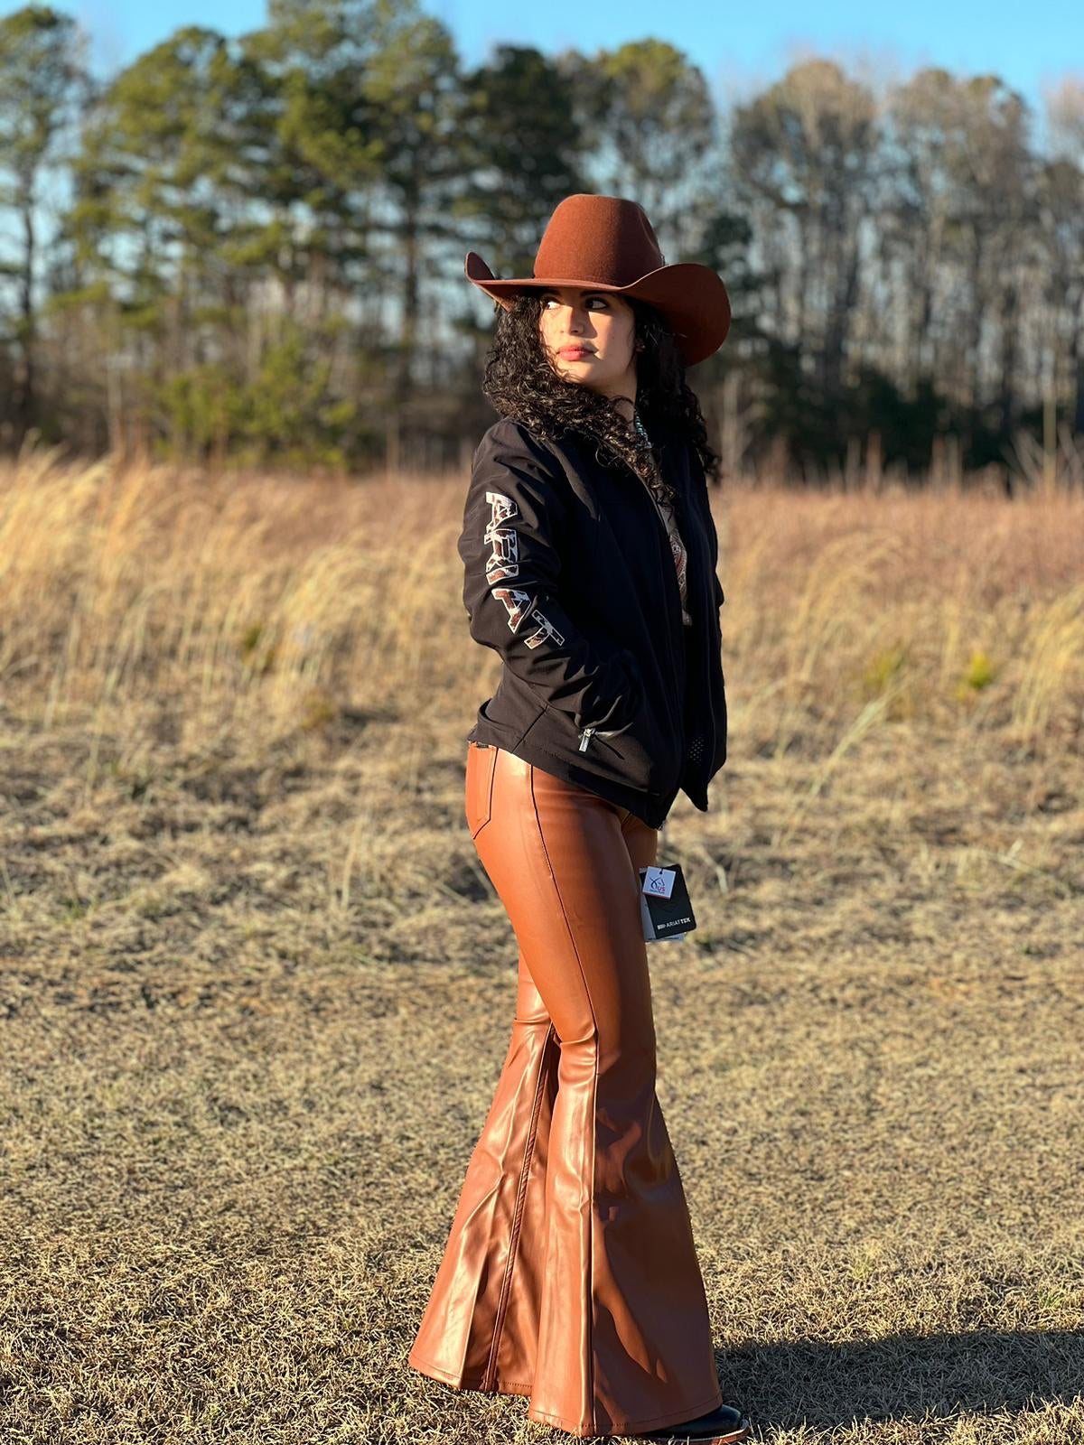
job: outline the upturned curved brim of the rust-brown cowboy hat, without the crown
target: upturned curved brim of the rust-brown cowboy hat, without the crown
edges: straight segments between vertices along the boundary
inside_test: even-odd
[[[700,262],[675,262],[659,266],[627,286],[613,286],[582,276],[512,276],[497,277],[477,251],[467,251],[467,279],[504,309],[522,290],[552,286],[577,286],[582,290],[635,296],[656,306],[666,318],[685,366],[695,366],[717,351],[730,331],[730,296],[723,277]]]

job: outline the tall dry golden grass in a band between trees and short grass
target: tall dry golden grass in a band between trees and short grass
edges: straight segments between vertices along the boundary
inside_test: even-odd
[[[461,487],[69,468],[0,478],[0,676],[20,715],[244,750],[341,709],[470,715],[496,659],[460,605]],[[831,757],[872,727],[1080,747],[1084,494],[717,503],[736,750]]]

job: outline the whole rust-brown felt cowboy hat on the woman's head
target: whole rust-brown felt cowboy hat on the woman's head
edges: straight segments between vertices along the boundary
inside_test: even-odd
[[[549,217],[533,276],[497,279],[467,251],[468,280],[506,309],[529,288],[590,286],[646,301],[669,322],[685,366],[717,351],[730,329],[730,296],[710,266],[666,266],[642,205],[619,195],[568,195]]]

